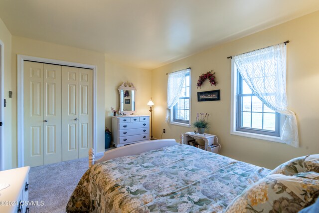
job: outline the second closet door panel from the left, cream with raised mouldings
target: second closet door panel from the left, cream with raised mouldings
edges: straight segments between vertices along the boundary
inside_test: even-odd
[[[44,64],[44,164],[62,161],[62,98],[59,65]]]

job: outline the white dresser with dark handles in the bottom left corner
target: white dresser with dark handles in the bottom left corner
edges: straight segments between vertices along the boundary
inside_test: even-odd
[[[29,212],[29,170],[21,167],[0,172],[0,213]]]

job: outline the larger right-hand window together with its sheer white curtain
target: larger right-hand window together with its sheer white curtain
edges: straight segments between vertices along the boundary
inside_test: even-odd
[[[232,57],[231,134],[299,146],[286,94],[286,43]]]

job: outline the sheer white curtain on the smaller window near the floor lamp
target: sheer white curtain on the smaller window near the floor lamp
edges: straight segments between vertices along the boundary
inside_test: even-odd
[[[169,118],[170,108],[177,103],[177,100],[180,97],[185,75],[186,69],[168,74],[166,121],[168,121]]]

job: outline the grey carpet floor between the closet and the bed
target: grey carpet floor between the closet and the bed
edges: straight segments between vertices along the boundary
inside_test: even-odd
[[[102,157],[97,155],[95,159]],[[29,172],[30,213],[65,213],[66,204],[82,175],[88,169],[88,158],[32,167]]]

